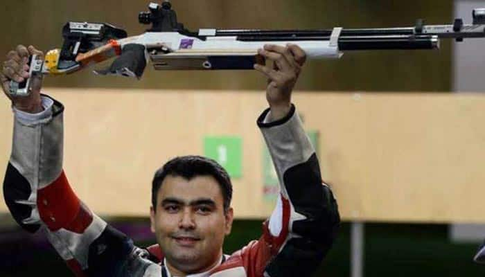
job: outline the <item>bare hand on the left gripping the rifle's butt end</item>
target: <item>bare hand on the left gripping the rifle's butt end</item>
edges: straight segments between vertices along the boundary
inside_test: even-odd
[[[0,81],[3,93],[12,100],[12,105],[16,109],[26,111],[30,114],[36,114],[43,110],[42,100],[40,98],[42,74],[39,77],[30,79],[32,89],[28,96],[11,96],[9,93],[10,80],[24,82],[26,78],[30,78],[28,74],[29,65],[27,64],[29,55],[37,55],[37,59],[44,60],[44,53],[38,51],[34,46],[28,46],[26,48],[23,45],[19,45],[15,50],[8,52],[6,60],[3,62]]]

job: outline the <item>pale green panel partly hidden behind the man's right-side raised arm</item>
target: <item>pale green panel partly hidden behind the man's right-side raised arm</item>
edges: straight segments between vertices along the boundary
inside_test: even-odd
[[[315,152],[319,152],[318,131],[308,131],[306,133],[310,142],[315,148]],[[270,151],[263,142],[263,193],[264,199],[267,201],[274,201],[279,193],[279,181],[276,170],[274,169],[273,161],[271,159]]]

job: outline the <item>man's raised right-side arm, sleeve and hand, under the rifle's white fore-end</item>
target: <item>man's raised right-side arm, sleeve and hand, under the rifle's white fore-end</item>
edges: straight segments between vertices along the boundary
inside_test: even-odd
[[[263,237],[243,249],[242,256],[251,276],[310,276],[335,240],[340,216],[291,104],[305,54],[294,45],[265,46],[259,53],[275,64],[273,69],[255,69],[268,78],[270,108],[258,118],[258,126],[279,177],[281,196],[265,222]]]

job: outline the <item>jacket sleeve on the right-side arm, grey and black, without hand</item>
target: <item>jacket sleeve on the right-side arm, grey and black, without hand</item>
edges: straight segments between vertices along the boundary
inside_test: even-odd
[[[277,253],[267,276],[310,276],[326,256],[340,224],[337,202],[321,180],[319,162],[294,105],[290,113],[270,121],[270,110],[258,126],[279,178],[281,197],[269,229]]]

